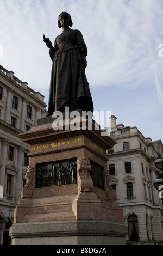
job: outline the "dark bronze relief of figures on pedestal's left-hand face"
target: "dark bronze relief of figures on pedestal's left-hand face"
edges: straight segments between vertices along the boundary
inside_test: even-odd
[[[36,164],[36,188],[77,183],[77,160]]]

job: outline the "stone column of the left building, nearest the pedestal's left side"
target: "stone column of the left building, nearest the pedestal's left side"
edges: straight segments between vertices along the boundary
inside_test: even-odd
[[[21,190],[22,190],[22,166],[23,166],[23,147],[18,147],[18,155],[17,155],[17,169],[18,173],[16,175],[16,190],[15,190],[15,203],[21,199]]]

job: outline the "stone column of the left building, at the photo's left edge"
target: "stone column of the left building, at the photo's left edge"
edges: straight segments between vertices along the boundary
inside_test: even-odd
[[[9,139],[1,139],[2,148],[1,148],[1,167],[0,167],[0,185],[3,187],[4,193],[4,181],[5,181],[5,166],[7,161],[8,153],[8,144],[10,143]]]

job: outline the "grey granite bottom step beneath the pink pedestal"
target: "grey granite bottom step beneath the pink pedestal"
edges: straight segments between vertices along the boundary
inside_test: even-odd
[[[12,245],[125,245],[126,226],[108,221],[17,223]]]

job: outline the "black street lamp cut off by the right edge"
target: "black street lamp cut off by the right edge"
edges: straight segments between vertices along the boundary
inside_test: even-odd
[[[158,175],[156,176],[156,179],[153,182],[153,185],[156,188],[156,190],[161,191],[163,188],[163,159],[160,154],[158,155],[158,158],[155,160],[154,164],[155,164],[155,167],[159,170],[158,170]],[[161,198],[161,200],[163,204],[163,198]]]

